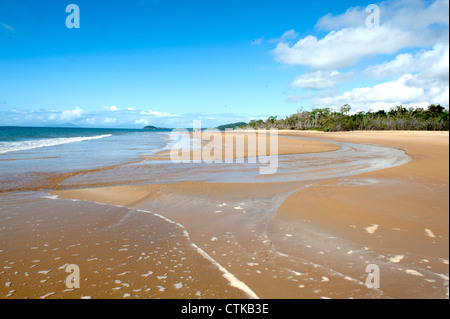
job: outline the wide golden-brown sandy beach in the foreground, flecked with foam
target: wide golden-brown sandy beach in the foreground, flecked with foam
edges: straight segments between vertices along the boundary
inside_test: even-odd
[[[168,169],[149,182],[144,173],[161,171],[166,152],[65,175],[0,215],[1,298],[448,298],[448,132],[279,135],[289,165],[294,154],[333,162],[346,152],[335,142],[410,160],[322,176],[322,159],[322,177],[304,180],[243,180],[239,169],[234,181],[195,180],[222,169]],[[2,207],[12,197],[2,194]],[[68,264],[80,267],[79,289],[65,286]],[[366,287],[369,264],[378,289]]]

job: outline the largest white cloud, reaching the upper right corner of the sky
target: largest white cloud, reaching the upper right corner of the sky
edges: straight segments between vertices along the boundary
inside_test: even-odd
[[[411,4],[412,2],[412,4]],[[312,69],[351,67],[377,54],[394,54],[411,47],[428,47],[448,42],[448,0],[427,6],[425,1],[397,0],[380,5],[381,25],[365,26],[365,8],[352,8],[339,16],[327,15],[317,24],[331,30],[319,39],[309,35],[291,44],[283,35],[272,51],[275,59]]]

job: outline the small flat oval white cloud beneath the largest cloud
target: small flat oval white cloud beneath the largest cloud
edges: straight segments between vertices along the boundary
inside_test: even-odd
[[[339,71],[315,71],[307,72],[297,77],[292,82],[292,87],[303,89],[322,90],[336,87],[339,83],[351,78],[349,74],[342,74]]]

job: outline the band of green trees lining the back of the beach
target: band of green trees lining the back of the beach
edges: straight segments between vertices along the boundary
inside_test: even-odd
[[[266,121],[252,120],[246,128],[277,128],[290,130],[355,131],[355,130],[428,130],[448,131],[449,111],[440,105],[423,108],[397,106],[390,111],[349,114],[350,105],[339,112],[329,108],[300,110],[284,119],[270,116]]]

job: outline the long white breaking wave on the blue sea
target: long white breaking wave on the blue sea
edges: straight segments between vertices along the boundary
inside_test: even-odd
[[[0,154],[25,151],[40,147],[57,146],[68,143],[83,142],[89,140],[97,140],[104,137],[110,137],[111,134],[97,135],[97,136],[86,136],[86,137],[57,137],[57,138],[46,138],[40,140],[29,140],[20,142],[0,142]]]

